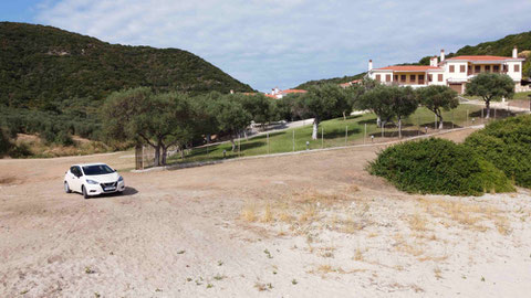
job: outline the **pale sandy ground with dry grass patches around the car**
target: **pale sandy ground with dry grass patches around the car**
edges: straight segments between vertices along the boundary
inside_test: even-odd
[[[0,297],[529,297],[529,191],[407,195],[364,171],[379,149],[146,173],[131,152],[0,160]],[[91,161],[126,193],[63,193]]]

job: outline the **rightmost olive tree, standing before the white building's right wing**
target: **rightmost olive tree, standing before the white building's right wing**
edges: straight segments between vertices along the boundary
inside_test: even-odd
[[[490,118],[490,102],[501,97],[511,98],[514,94],[514,81],[506,74],[481,73],[467,83],[467,95],[481,96]]]

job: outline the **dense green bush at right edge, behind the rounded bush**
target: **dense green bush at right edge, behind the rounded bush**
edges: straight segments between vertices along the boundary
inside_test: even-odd
[[[492,162],[517,185],[531,188],[531,116],[489,124],[470,135],[465,145]]]

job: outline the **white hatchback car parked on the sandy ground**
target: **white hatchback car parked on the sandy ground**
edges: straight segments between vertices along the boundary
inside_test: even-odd
[[[105,163],[73,164],[64,174],[64,191],[82,193],[85,199],[124,190],[124,178]]]

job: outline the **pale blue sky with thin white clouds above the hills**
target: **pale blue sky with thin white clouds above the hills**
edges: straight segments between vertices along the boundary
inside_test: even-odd
[[[0,0],[0,21],[177,47],[267,92],[531,30],[529,0]]]

